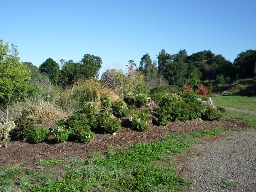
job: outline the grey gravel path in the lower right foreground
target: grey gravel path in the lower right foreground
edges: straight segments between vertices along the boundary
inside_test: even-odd
[[[256,192],[256,129],[201,138],[176,157],[177,173],[193,181],[185,192]]]

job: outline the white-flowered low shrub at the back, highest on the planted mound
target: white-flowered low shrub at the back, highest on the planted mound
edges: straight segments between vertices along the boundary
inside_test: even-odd
[[[134,94],[129,92],[125,97],[124,101],[131,106],[142,107],[146,106],[147,103],[147,95],[144,93]]]

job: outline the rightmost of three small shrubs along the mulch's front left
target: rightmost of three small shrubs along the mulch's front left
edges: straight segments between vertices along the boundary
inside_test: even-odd
[[[90,130],[89,125],[84,125],[76,129],[76,138],[83,143],[89,143],[94,139],[94,133]]]

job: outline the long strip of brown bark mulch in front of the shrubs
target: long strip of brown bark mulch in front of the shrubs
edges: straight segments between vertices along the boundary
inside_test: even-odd
[[[148,143],[170,134],[182,134],[212,128],[246,127],[248,127],[246,122],[229,120],[227,116],[224,116],[219,122],[195,119],[185,122],[169,122],[167,126],[151,123],[147,132],[137,132],[124,125],[114,135],[95,134],[94,140],[89,144],[76,142],[55,144],[52,137],[46,142],[37,144],[30,144],[26,141],[10,141],[8,148],[0,148],[0,166],[20,164],[21,166],[33,167],[36,161],[42,159],[60,159],[68,156],[87,158],[93,152],[106,152],[109,148],[128,147],[134,143]]]

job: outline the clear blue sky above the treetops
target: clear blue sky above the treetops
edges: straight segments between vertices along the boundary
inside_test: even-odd
[[[162,48],[231,61],[256,49],[255,0],[2,0],[0,18],[0,38],[36,66],[88,53],[102,58],[102,72]]]

